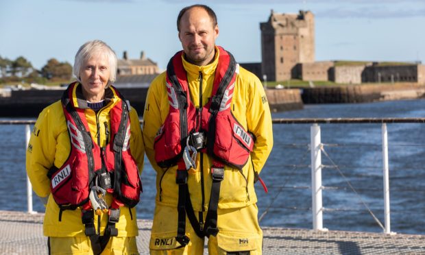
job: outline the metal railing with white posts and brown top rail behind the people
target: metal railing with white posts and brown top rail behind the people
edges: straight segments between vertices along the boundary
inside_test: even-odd
[[[143,121],[141,121],[142,123]],[[31,136],[31,129],[29,125],[33,125],[35,121],[28,120],[0,120],[0,125],[25,125],[26,143],[29,143]],[[321,184],[321,154],[325,153],[324,144],[321,143],[321,132],[319,123],[381,123],[382,124],[382,154],[383,154],[383,199],[384,199],[384,214],[385,225],[372,216],[378,224],[383,228],[385,234],[391,233],[391,217],[390,217],[390,200],[389,200],[389,164],[388,164],[388,134],[387,123],[425,123],[425,118],[328,118],[328,119],[273,119],[275,124],[312,124],[311,125],[311,196],[312,196],[312,217],[313,217],[313,230],[327,230],[323,227],[323,212],[322,205],[322,190],[324,186]],[[354,189],[354,188],[353,188]],[[32,186],[27,178],[27,212],[36,213],[32,209]]]

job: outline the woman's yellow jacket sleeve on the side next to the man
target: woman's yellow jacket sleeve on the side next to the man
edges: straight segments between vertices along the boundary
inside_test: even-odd
[[[136,160],[139,173],[143,171],[143,160],[145,159],[145,144],[143,143],[142,130],[138,114],[134,108],[130,110],[130,149]]]

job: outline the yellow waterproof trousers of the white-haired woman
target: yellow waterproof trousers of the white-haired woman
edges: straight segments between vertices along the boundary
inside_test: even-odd
[[[49,237],[49,254],[93,254],[93,250],[88,236]],[[111,237],[101,254],[138,254],[136,236]]]

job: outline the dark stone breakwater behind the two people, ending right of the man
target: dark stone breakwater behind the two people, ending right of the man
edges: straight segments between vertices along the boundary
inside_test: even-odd
[[[139,116],[143,114],[147,88],[119,88],[119,91],[130,101]],[[43,108],[60,100],[64,90],[13,90],[7,95],[0,95],[0,117],[36,118]],[[270,108],[273,112],[302,109],[303,104],[299,89],[266,90]]]

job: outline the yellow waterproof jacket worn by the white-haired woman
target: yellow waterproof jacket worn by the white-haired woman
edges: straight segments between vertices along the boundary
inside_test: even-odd
[[[75,105],[77,106],[76,98],[82,98],[81,84],[75,86],[73,97]],[[86,109],[84,111],[93,142],[97,143],[97,138],[99,136],[99,146],[101,147],[106,143],[104,122],[108,123],[108,130],[110,130],[109,111],[121,101],[121,99],[113,93],[113,90],[108,88],[106,88],[105,99],[108,101],[108,104],[99,110],[97,114],[91,109]],[[133,108],[130,110],[130,125],[130,148],[132,156],[137,162],[139,172],[141,173],[145,148],[138,115]],[[108,141],[110,141],[110,138],[108,138]],[[47,171],[49,171],[53,165],[58,168],[62,167],[69,156],[70,150],[71,144],[66,128],[64,111],[61,101],[56,101],[42,110],[38,116],[27,148],[26,168],[29,180],[32,183],[32,188],[39,197],[46,199],[48,197],[45,220],[43,223],[45,236],[85,236],[80,208],[77,208],[77,210],[64,210],[62,213],[62,220],[59,221],[60,209],[50,194],[50,180],[47,178]],[[111,204],[112,195],[106,195],[106,202],[108,205]],[[98,221],[99,217],[95,215],[96,229]],[[103,235],[106,223],[108,223],[108,214],[102,214],[100,216],[100,221],[101,235]],[[132,208],[130,213],[130,208],[127,206],[121,207],[121,214],[116,227],[118,229],[118,236],[137,236],[138,228],[135,208]]]

